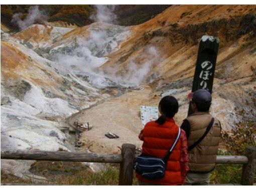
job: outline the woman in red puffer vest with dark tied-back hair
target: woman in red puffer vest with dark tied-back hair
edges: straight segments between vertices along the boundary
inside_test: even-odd
[[[156,121],[147,122],[139,134],[143,140],[142,154],[164,158],[178,134],[178,126],[173,116],[178,112],[179,103],[173,96],[165,96],[159,102],[161,116]],[[161,179],[148,179],[136,173],[140,185],[181,185],[186,181],[188,168],[188,146],[186,133],[181,136],[173,149]]]

